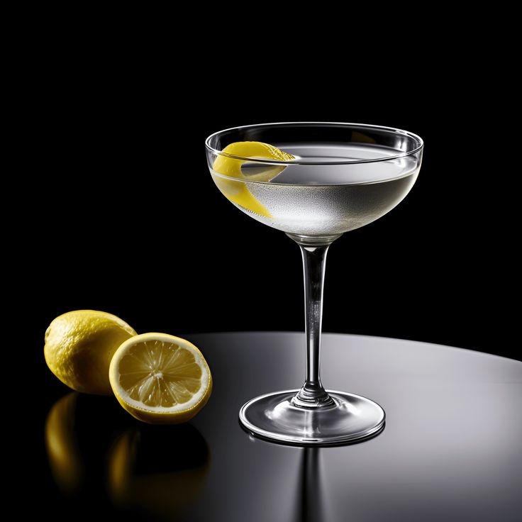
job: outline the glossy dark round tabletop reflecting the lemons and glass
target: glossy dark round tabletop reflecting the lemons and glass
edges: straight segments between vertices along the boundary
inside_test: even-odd
[[[64,394],[42,431],[55,521],[519,521],[522,362],[440,345],[325,334],[328,389],[381,404],[377,437],[297,448],[240,428],[245,401],[297,388],[302,333],[187,335],[214,379],[182,426],[148,426],[111,397]]]

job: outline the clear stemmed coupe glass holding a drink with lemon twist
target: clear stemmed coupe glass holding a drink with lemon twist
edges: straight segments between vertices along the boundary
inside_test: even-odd
[[[269,143],[294,159],[238,155],[241,145],[224,150],[245,141]],[[248,147],[243,144],[243,150]],[[422,151],[421,138],[406,130],[358,123],[267,123],[221,130],[206,139],[218,189],[241,211],[287,233],[303,257],[304,384],[248,401],[239,417],[250,433],[280,443],[334,445],[368,438],[384,427],[377,403],[325,390],[321,383],[326,253],[343,233],[375,221],[404,199]]]

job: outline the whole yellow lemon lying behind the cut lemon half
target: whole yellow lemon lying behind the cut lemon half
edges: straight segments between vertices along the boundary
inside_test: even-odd
[[[111,313],[67,312],[55,318],[45,332],[45,362],[68,387],[88,394],[111,395],[112,356],[133,335],[133,328]]]

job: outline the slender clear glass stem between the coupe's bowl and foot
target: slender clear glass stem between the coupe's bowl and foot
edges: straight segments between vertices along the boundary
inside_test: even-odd
[[[306,380],[293,399],[295,406],[318,407],[333,404],[323,384],[321,384],[321,323],[323,320],[323,286],[326,267],[326,254],[333,238],[323,238],[327,243],[316,244],[317,239],[296,240],[301,248],[304,270],[304,315],[306,331]]]

